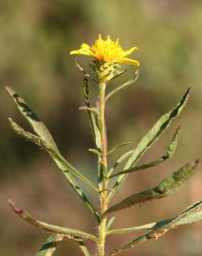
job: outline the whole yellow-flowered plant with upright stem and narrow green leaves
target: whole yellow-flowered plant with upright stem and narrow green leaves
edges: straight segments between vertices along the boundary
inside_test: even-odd
[[[111,199],[116,194],[120,185],[127,179],[127,176],[132,172],[137,172],[140,170],[147,170],[148,168],[160,165],[165,161],[172,158],[174,152],[176,151],[176,146],[178,143],[178,136],[181,134],[181,125],[179,125],[174,133],[174,136],[167,147],[166,154],[163,154],[160,158],[151,161],[150,163],[144,163],[138,165],[140,158],[147,152],[147,150],[160,138],[160,136],[167,130],[169,125],[171,125],[172,120],[176,118],[187,102],[187,98],[190,94],[190,89],[187,89],[181,100],[173,107],[170,111],[165,113],[159,120],[154,124],[154,126],[149,129],[147,134],[143,136],[140,140],[140,143],[134,149],[129,150],[112,166],[109,166],[108,159],[110,154],[115,152],[118,148],[126,146],[128,143],[118,144],[113,149],[108,149],[107,147],[107,134],[106,134],[106,123],[105,123],[105,106],[107,101],[111,99],[113,95],[122,91],[122,89],[127,88],[127,86],[134,84],[138,77],[138,71],[136,71],[136,76],[117,86],[116,89],[111,91],[108,95],[105,93],[107,84],[111,80],[117,78],[120,75],[125,73],[125,70],[122,70],[122,67],[118,63],[125,63],[134,66],[139,66],[137,60],[128,59],[126,56],[133,53],[137,50],[136,47],[131,48],[128,51],[123,51],[119,40],[112,41],[108,36],[107,39],[102,39],[102,36],[99,35],[98,39],[95,40],[95,44],[89,46],[87,44],[82,44],[79,50],[71,51],[71,55],[89,55],[93,57],[92,63],[90,64],[93,69],[94,77],[86,73],[84,69],[77,64],[76,66],[84,73],[84,83],[83,83],[83,96],[84,96],[84,106],[80,109],[84,109],[88,112],[89,122],[91,127],[91,134],[93,137],[93,143],[95,147],[89,149],[98,156],[98,183],[93,183],[91,180],[86,178],[79,170],[77,170],[71,163],[68,163],[66,159],[59,152],[59,149],[53,140],[50,132],[44,123],[39,120],[36,114],[28,107],[28,104],[10,87],[6,87],[9,95],[12,97],[14,102],[17,104],[19,111],[22,115],[28,120],[35,134],[32,134],[28,131],[25,131],[16,122],[9,118],[10,125],[14,131],[17,132],[20,136],[30,140],[31,142],[39,145],[44,149],[55,162],[59,170],[64,174],[64,177],[71,185],[77,196],[82,199],[86,207],[91,212],[92,216],[97,221],[97,230],[96,234],[91,234],[89,232],[84,232],[81,230],[76,230],[74,228],[66,228],[62,226],[56,226],[44,221],[38,221],[28,212],[17,208],[15,203],[9,201],[12,210],[24,219],[28,223],[51,232],[52,235],[48,237],[45,241],[42,248],[39,249],[37,256],[48,256],[53,255],[57,244],[63,240],[73,240],[77,242],[80,246],[82,255],[98,255],[98,256],[113,256],[122,253],[129,248],[133,248],[147,241],[148,239],[158,239],[165,232],[171,230],[176,226],[180,226],[187,223],[192,223],[195,221],[200,221],[202,219],[202,201],[197,201],[192,205],[188,206],[185,210],[176,214],[175,217],[167,219],[165,221],[158,221],[155,223],[148,223],[143,226],[134,226],[130,228],[111,228],[115,218],[112,216],[109,219],[109,214],[113,214],[118,210],[124,210],[133,205],[142,205],[143,203],[148,203],[156,199],[162,199],[165,196],[173,194],[176,189],[187,181],[194,172],[196,172],[196,167],[199,165],[199,160],[192,161],[180,167],[176,172],[169,174],[163,181],[158,183],[154,188],[144,190],[141,192],[136,192],[131,196],[128,196],[125,199],[122,199],[115,205],[111,205]],[[99,95],[98,100],[99,104],[96,107],[93,107],[89,102],[89,79],[92,79],[99,86]],[[120,172],[116,171],[116,167],[126,161],[125,166]],[[100,207],[98,209],[91,203],[86,194],[82,191],[82,188],[77,184],[75,179],[80,179],[86,185],[89,186],[96,194],[98,194],[100,199]],[[105,244],[107,237],[114,234],[125,233],[125,232],[136,232],[144,231],[143,235],[136,237],[131,241],[128,241],[126,244],[120,245],[118,248],[114,248],[111,253],[106,253]],[[85,240],[90,239],[96,244],[96,254],[95,252],[90,252],[89,248],[86,246]]]

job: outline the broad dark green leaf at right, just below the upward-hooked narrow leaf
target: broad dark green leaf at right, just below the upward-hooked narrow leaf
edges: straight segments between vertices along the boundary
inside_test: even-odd
[[[120,201],[120,203],[111,206],[111,208],[109,208],[105,214],[129,208],[132,205],[147,203],[154,199],[161,199],[165,196],[173,194],[180,185],[187,181],[187,179],[189,179],[190,176],[196,172],[196,167],[199,165],[199,163],[199,160],[187,163],[187,165],[181,167],[181,169],[163,179],[163,181],[161,181],[155,188],[127,197],[126,199]]]

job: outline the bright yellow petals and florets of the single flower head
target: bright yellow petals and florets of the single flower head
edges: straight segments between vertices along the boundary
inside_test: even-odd
[[[127,55],[131,54],[133,51],[137,50],[137,47],[133,47],[128,51],[123,51],[119,45],[119,40],[112,41],[110,36],[107,36],[106,40],[102,39],[102,36],[99,35],[98,39],[95,40],[95,44],[89,46],[88,44],[82,44],[81,48],[77,51],[71,51],[70,54],[83,54],[94,57],[99,62],[122,62],[127,64],[132,64],[139,66],[137,60],[128,59]]]

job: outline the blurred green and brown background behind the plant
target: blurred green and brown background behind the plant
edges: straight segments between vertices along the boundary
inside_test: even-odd
[[[188,86],[192,93],[181,116],[169,131],[145,154],[142,162],[165,154],[178,124],[183,132],[171,161],[159,167],[131,174],[113,199],[120,201],[136,191],[152,188],[158,181],[194,158],[202,156],[202,1],[183,0],[1,0],[0,2],[0,232],[1,256],[30,256],[48,236],[17,218],[8,207],[12,199],[37,219],[96,232],[95,222],[85,205],[66,184],[48,156],[10,129],[12,117],[30,130],[4,85],[9,84],[44,120],[62,154],[95,181],[96,157],[87,114],[82,105],[83,75],[75,67],[69,51],[80,44],[93,44],[98,33],[120,38],[127,50],[138,46],[131,58],[140,61],[140,76],[134,86],[111,99],[107,105],[109,147],[140,138],[167,110],[174,107]],[[89,70],[89,57],[77,60]],[[134,75],[128,73],[109,86],[109,91]],[[98,88],[90,85],[91,100]],[[125,150],[127,150],[125,149]],[[120,149],[110,164],[124,152]],[[201,168],[190,181],[167,199],[116,213],[113,227],[136,226],[175,216],[187,205],[201,199]],[[86,190],[85,190],[86,191]],[[86,191],[98,206],[92,190]],[[147,241],[122,255],[199,256],[202,255],[201,223],[183,226],[158,239]],[[110,237],[107,251],[139,234]],[[88,244],[95,255],[94,244]],[[64,242],[57,256],[81,255],[77,245]]]

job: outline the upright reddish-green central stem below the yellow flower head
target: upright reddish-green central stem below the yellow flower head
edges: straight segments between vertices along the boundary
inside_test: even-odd
[[[105,127],[105,120],[104,120],[104,95],[106,89],[106,83],[101,82],[100,86],[100,134],[102,140],[102,148],[101,148],[101,161],[102,165],[104,165],[105,169],[107,170],[107,139],[106,139],[106,127]],[[103,168],[102,168],[103,169]],[[99,244],[98,244],[98,256],[104,256],[104,244],[105,244],[105,237],[107,235],[106,224],[107,224],[107,217],[102,217],[102,214],[107,210],[107,177],[104,175],[103,172],[103,181],[102,181],[102,192],[100,193],[100,226],[99,226]]]

